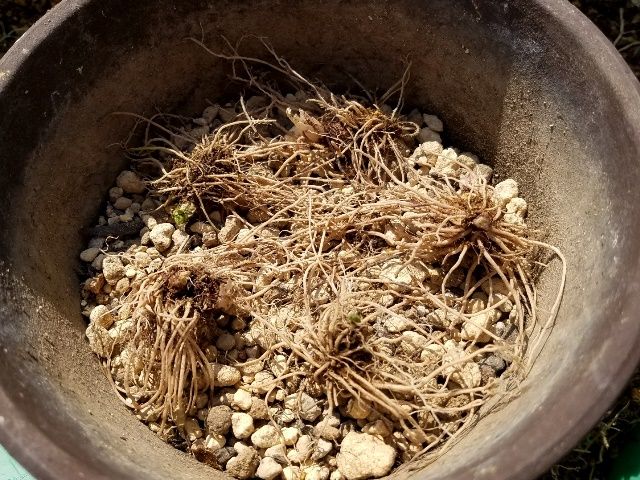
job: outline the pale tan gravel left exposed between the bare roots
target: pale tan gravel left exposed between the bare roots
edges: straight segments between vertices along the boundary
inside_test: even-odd
[[[213,118],[218,111],[221,110],[209,108],[202,118]],[[476,181],[469,172],[490,180],[492,170],[480,164],[474,155],[443,148],[439,134],[443,125],[437,117],[414,113],[422,128],[418,137],[420,144],[408,161],[413,162],[416,169],[437,178],[445,174],[460,175],[460,165],[465,165],[467,177],[460,177],[461,182]],[[194,128],[203,127],[205,125]],[[178,252],[206,251],[229,242],[243,242],[247,248],[253,248],[259,238],[249,233],[251,226],[240,217],[231,214],[224,218],[218,211],[210,212],[209,217],[219,231],[202,220],[177,225],[171,212],[159,208],[161,201],[145,196],[150,193],[147,184],[133,171],[123,171],[116,184],[109,190],[110,203],[103,218],[92,229],[96,236],[80,253],[81,261],[94,274],[83,286],[86,304],[83,312],[90,320],[87,338],[91,348],[102,356],[109,355],[116,345],[123,345],[127,335],[131,335],[131,320],[125,318],[127,315],[119,318],[122,310],[119,312],[113,305],[131,291],[136,279],[160,271],[167,259]],[[496,190],[513,223],[524,222],[527,205],[517,196],[517,184],[505,180]],[[107,232],[107,228],[112,230]],[[400,242],[402,228],[390,228],[384,234],[389,241]],[[272,235],[279,234],[277,229],[274,232]],[[112,233],[118,238],[111,239]],[[130,235],[135,238],[127,240]],[[379,276],[391,282],[391,290],[401,292],[416,282],[441,282],[444,272],[438,268],[405,265],[392,259],[380,266]],[[265,271],[260,288],[284,281],[279,275],[279,272]],[[454,277],[451,278],[453,284]],[[350,398],[329,412],[321,384],[303,387],[295,377],[282,381],[280,377],[287,377],[291,371],[289,356],[278,353],[263,359],[265,350],[272,346],[273,335],[263,325],[239,314],[233,303],[233,292],[225,292],[224,284],[220,289],[215,305],[218,316],[212,316],[210,331],[202,332],[210,338],[209,345],[202,351],[213,372],[213,391],[199,391],[193,409],[181,412],[184,428],[182,433],[177,429],[177,435],[182,435],[193,449],[209,452],[220,468],[238,479],[376,478],[391,471],[397,456],[406,459],[408,448],[414,447],[407,436],[420,442],[416,432],[403,433],[398,425],[381,419],[372,405],[362,399]],[[329,289],[320,286],[314,290],[313,300],[327,301],[329,293]],[[506,321],[503,314],[513,308],[508,294],[498,283],[482,284],[470,300],[470,309],[474,310],[469,311],[474,315],[460,325],[459,339],[446,340],[442,345],[417,331],[407,320],[406,312],[390,311],[380,321],[380,332],[394,338],[396,347],[416,362],[442,359],[452,363],[443,368],[442,375],[449,376],[463,388],[478,387],[483,379],[492,375],[495,378],[495,372],[504,370],[506,365],[504,361],[500,363],[497,356],[484,359],[482,370],[474,361],[460,362],[468,355],[464,341],[486,341],[487,332],[495,332],[495,325]],[[381,303],[392,307],[395,296],[387,293],[386,297]],[[499,302],[500,306],[487,309],[489,302]],[[451,324],[452,319],[444,311],[426,305],[414,308],[416,318],[421,321],[436,326]],[[294,315],[292,308],[282,306],[268,321],[280,329]],[[393,350],[389,353],[392,355]],[[251,361],[244,363],[247,360]],[[123,366],[128,361],[122,354],[112,359],[112,368],[119,372],[116,382],[120,384]],[[139,416],[152,430],[158,431],[157,414],[154,417],[146,412]],[[450,425],[451,431],[455,431],[457,424]]]

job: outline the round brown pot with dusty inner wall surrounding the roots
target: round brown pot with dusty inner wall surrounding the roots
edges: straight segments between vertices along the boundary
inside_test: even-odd
[[[76,273],[81,231],[124,167],[115,144],[132,121],[112,113],[194,115],[230,91],[228,65],[189,36],[213,50],[222,36],[264,36],[295,68],[338,88],[353,75],[384,89],[408,58],[407,104],[438,114],[451,144],[520,181],[530,217],[567,256],[563,307],[522,393],[426,467],[428,478],[534,475],[539,458],[580,433],[565,431],[595,420],[601,412],[580,408],[585,392],[611,395],[611,373],[631,368],[614,351],[638,336],[624,281],[639,232],[621,214],[639,204],[637,139],[585,48],[534,3],[88,1],[34,46],[0,93],[0,383],[29,428],[81,459],[69,478],[220,476],[163,444],[115,398],[84,339]],[[255,39],[243,45],[264,56]],[[553,264],[542,279],[543,318],[558,273]],[[511,470],[498,470],[507,457]]]

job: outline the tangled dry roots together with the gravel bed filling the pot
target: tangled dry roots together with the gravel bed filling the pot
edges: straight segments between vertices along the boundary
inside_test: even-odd
[[[443,148],[436,117],[388,105],[406,75],[380,98],[336,95],[275,54],[215,55],[254,95],[190,129],[150,120],[129,150],[146,226],[89,260],[87,335],[114,387],[238,478],[375,477],[438,455],[526,376],[564,272],[544,325],[535,278],[562,254],[527,226],[515,181],[493,185],[475,155]],[[350,435],[382,442],[388,468],[348,460]],[[260,460],[280,444],[276,466]]]

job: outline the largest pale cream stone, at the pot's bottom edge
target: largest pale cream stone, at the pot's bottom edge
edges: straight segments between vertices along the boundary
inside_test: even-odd
[[[373,435],[351,432],[342,440],[336,460],[347,480],[377,478],[391,471],[396,451]]]

